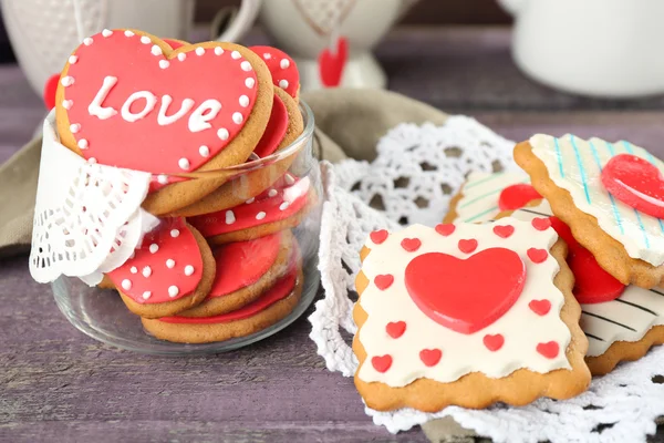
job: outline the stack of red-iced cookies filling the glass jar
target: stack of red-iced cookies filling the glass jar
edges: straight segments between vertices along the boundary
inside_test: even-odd
[[[291,229],[317,200],[310,179],[289,172],[300,152],[288,148],[304,128],[299,87],[293,60],[269,47],[116,29],[69,58],[55,100],[61,143],[153,177],[143,208],[160,224],[101,286],[155,337],[248,336],[298,305],[302,258]]]

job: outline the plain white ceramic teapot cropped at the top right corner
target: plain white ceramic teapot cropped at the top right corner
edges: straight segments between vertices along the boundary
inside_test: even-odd
[[[498,1],[516,19],[515,62],[533,79],[592,96],[664,92],[664,1]]]

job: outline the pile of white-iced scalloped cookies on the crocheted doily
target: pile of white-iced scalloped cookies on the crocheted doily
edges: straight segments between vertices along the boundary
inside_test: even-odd
[[[535,135],[444,223],[376,230],[356,279],[355,385],[376,410],[569,399],[664,342],[664,163]]]

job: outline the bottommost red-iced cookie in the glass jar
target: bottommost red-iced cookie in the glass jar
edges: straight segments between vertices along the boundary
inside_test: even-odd
[[[242,308],[214,317],[142,318],[144,328],[162,340],[179,343],[209,343],[250,336],[277,323],[298,306],[302,295],[301,260],[260,298]]]

